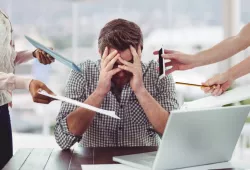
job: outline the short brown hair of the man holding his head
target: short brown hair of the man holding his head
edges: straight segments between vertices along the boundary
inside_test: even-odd
[[[108,22],[100,31],[98,48],[103,53],[105,47],[124,51],[129,45],[143,47],[143,37],[140,27],[125,19],[114,19]]]

